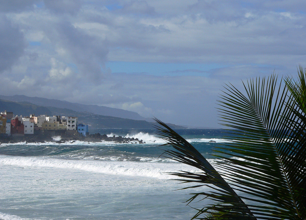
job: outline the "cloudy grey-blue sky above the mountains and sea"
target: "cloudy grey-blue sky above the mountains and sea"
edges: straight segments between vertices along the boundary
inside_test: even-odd
[[[218,128],[225,83],[306,65],[306,1],[0,0],[0,92]],[[63,106],[64,107],[64,106]]]

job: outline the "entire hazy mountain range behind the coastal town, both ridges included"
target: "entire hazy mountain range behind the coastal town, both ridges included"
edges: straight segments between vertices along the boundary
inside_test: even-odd
[[[0,95],[0,110],[12,111],[14,115],[23,116],[29,116],[30,114],[74,116],[78,117],[80,123],[88,124],[90,128],[152,129],[155,124],[155,122],[145,121],[144,117],[132,111],[24,95]],[[176,129],[185,128],[174,124],[168,125]]]

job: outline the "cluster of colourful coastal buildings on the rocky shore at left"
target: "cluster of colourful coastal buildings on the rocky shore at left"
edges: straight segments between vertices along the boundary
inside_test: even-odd
[[[1,112],[0,114],[0,134],[28,135],[38,132],[68,130],[77,131],[83,136],[88,133],[88,125],[78,124],[77,117],[72,116],[47,116],[34,114],[29,117],[14,116],[13,112]]]

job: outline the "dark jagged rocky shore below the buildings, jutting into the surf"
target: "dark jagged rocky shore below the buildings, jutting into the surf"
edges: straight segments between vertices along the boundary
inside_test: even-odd
[[[89,134],[86,137],[84,136],[75,136],[75,135],[63,135],[60,136],[60,140],[55,138],[54,136],[49,135],[35,135],[35,136],[8,136],[8,137],[0,137],[1,143],[18,143],[25,141],[26,143],[44,143],[44,142],[54,142],[54,143],[65,143],[65,142],[73,142],[76,140],[84,141],[84,142],[102,142],[102,141],[110,141],[118,144],[145,144],[146,142],[143,140],[139,140],[138,138],[130,138],[130,137],[122,137],[122,136],[112,136],[108,137],[106,134],[101,135],[100,133]]]

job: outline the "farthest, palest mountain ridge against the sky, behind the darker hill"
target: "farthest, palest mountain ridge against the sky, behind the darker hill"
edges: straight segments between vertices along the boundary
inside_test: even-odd
[[[13,96],[0,95],[0,99],[9,100],[13,102],[28,102],[35,105],[46,106],[46,107],[51,106],[56,108],[66,108],[77,112],[90,112],[93,114],[99,114],[104,116],[114,116],[114,117],[129,118],[134,120],[152,121],[151,119],[140,116],[136,112],[117,109],[117,108],[110,108],[106,106],[84,105],[80,103],[70,103],[67,101],[61,101],[57,99],[45,99],[39,97],[29,97],[25,95],[13,95]]]

